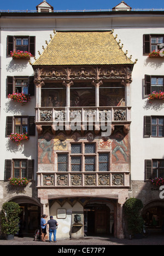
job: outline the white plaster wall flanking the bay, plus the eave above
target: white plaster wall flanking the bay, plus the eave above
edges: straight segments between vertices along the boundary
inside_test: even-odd
[[[38,50],[43,52],[42,45],[46,46],[45,40],[50,40],[50,34],[55,30],[111,30],[118,34],[116,40],[121,39],[124,44],[123,50],[128,50],[127,56],[132,55],[132,60],[138,59],[134,65],[131,84],[131,172],[133,180],[144,179],[144,159],[163,158],[164,138],[143,138],[143,117],[144,115],[164,115],[163,106],[160,109],[153,109],[151,106],[145,108],[147,98],[143,96],[144,75],[163,75],[163,60],[148,59],[143,56],[143,34],[164,33],[162,15],[142,14],[137,15],[88,15],[83,16],[21,16],[16,18],[5,17],[1,22],[1,43],[3,46],[3,57],[1,60],[1,172],[0,180],[4,177],[4,159],[29,158],[36,159],[36,138],[31,137],[26,142],[26,146],[16,152],[11,152],[8,145],[8,138],[5,138],[5,117],[15,115],[15,112],[24,115],[34,115],[35,100],[32,99],[28,106],[17,107],[9,105],[9,100],[5,97],[7,75],[32,75],[33,69],[28,62],[24,66],[16,65],[16,61],[11,57],[6,57],[7,35],[29,35],[36,36],[36,57]],[[33,62],[33,59],[32,59]],[[28,145],[27,145],[28,144]],[[6,148],[7,147],[7,148]]]

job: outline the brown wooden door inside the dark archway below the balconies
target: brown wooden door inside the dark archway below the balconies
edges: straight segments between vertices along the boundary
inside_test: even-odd
[[[106,233],[107,232],[107,211],[96,210],[95,211],[95,232]]]

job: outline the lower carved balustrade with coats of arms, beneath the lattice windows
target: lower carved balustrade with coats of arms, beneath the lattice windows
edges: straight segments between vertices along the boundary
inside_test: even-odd
[[[129,187],[129,172],[38,172],[38,187]]]

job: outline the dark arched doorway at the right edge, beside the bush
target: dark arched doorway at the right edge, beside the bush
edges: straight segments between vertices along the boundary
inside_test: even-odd
[[[150,234],[164,232],[164,202],[153,201],[143,209],[143,219]]]

